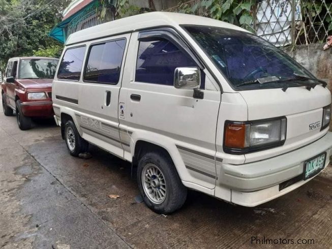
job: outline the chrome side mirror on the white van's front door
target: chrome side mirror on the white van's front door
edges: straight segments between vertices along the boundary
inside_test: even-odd
[[[199,88],[201,72],[197,67],[176,68],[174,71],[174,87],[181,89]]]

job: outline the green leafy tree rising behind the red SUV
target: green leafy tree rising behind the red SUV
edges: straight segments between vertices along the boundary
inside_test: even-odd
[[[48,33],[70,0],[0,0],[0,70],[14,56],[59,56],[62,44]]]

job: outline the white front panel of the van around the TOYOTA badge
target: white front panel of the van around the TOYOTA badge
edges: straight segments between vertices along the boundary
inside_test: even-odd
[[[266,150],[264,157],[286,153],[310,144],[324,136],[328,128],[321,130],[323,107],[331,103],[327,88],[317,85],[310,91],[306,87],[240,91],[248,106],[248,120],[286,116],[286,141],[281,147]],[[311,124],[319,123],[314,129]],[[261,154],[246,154],[246,163],[260,160]],[[263,156],[263,155],[262,155]]]

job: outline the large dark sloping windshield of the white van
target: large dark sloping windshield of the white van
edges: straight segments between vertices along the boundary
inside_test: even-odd
[[[251,33],[211,26],[184,28],[238,90],[296,86],[287,81],[296,75],[314,78],[280,49]]]

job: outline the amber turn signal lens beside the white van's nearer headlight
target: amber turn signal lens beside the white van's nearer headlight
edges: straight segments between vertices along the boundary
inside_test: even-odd
[[[227,123],[225,146],[231,148],[246,147],[246,124]]]

